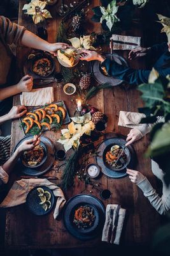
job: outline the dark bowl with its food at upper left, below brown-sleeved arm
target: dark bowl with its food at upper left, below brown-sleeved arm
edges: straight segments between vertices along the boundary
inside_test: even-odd
[[[31,72],[36,74],[36,76],[44,78],[53,73],[55,63],[50,54],[39,52],[33,58],[31,58],[31,60],[29,60],[29,68]]]

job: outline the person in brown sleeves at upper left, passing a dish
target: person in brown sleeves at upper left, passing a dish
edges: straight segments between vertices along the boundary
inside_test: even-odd
[[[0,115],[9,110],[9,100],[7,99],[20,92],[30,92],[32,90],[33,79],[31,76],[24,76],[14,85],[13,84],[13,54],[9,45],[24,45],[34,49],[50,52],[56,55],[58,49],[66,49],[67,44],[50,44],[45,40],[28,31],[23,26],[12,23],[6,17],[0,16]],[[3,101],[2,101],[3,100]]]

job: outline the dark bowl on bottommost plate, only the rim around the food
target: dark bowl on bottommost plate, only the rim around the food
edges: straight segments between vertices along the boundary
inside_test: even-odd
[[[73,223],[73,220],[74,220],[74,212],[76,211],[76,209],[78,209],[78,207],[80,206],[89,206],[93,209],[94,211],[94,215],[96,216],[95,220],[94,220],[94,223],[91,227],[89,228],[78,228],[74,223]],[[96,230],[97,226],[99,225],[99,212],[97,211],[96,207],[94,205],[91,205],[91,204],[86,204],[86,203],[80,203],[80,204],[77,204],[73,207],[73,209],[71,210],[70,212],[70,222],[73,226],[74,229],[76,229],[78,232],[80,232],[81,234],[90,234],[92,232],[94,232],[94,230]]]

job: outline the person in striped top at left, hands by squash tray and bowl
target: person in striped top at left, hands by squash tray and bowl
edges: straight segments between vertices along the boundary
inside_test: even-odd
[[[27,109],[25,106],[13,106],[8,114],[0,116],[0,125],[7,120],[20,118],[20,116],[24,115],[26,111]],[[22,152],[25,150],[32,150],[36,145],[39,144],[38,139],[36,145],[32,145],[35,140],[36,136],[31,140],[25,140],[10,157],[11,136],[0,136],[0,185],[8,182],[9,174],[13,170],[13,166],[15,166],[15,163],[17,163],[17,160],[21,156]]]

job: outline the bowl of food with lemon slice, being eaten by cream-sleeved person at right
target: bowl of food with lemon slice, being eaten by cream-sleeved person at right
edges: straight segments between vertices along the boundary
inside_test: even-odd
[[[123,161],[119,161],[119,157]],[[119,172],[125,169],[125,167],[131,161],[131,153],[129,148],[124,145],[110,144],[103,151],[103,163],[110,170]]]

